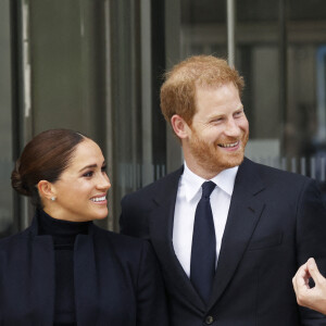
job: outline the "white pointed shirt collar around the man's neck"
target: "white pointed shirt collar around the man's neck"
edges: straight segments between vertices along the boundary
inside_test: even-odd
[[[208,180],[205,180],[204,178],[198,176],[192,171],[190,171],[186,162],[184,162],[184,165],[185,165],[185,170],[184,170],[181,183],[183,186],[185,187],[186,200],[190,201],[200,191],[201,185]],[[239,166],[223,170],[216,176],[211,178],[211,180],[215,183],[216,186],[221,188],[223,191],[231,196],[235,187],[235,180],[236,180],[238,168]]]

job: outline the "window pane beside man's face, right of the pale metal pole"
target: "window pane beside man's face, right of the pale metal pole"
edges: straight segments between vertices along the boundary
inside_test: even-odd
[[[238,0],[236,11],[236,65],[244,76],[242,101],[250,123],[246,154],[259,161],[277,159],[281,154],[284,110],[279,1]]]

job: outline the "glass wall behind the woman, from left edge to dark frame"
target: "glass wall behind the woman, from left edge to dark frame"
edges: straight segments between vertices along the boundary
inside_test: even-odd
[[[106,155],[111,102],[109,1],[1,0],[0,5],[1,236],[9,226],[9,233],[28,226],[34,213],[10,185],[26,142],[46,129],[71,128],[95,139]],[[110,221],[100,224],[109,227]]]

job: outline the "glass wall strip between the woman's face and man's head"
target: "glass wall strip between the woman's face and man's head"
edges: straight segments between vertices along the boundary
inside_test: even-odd
[[[111,1],[113,205],[166,173],[164,1]]]

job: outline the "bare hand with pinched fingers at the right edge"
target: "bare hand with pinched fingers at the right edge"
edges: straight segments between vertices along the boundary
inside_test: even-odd
[[[315,283],[313,288],[309,285],[310,277]],[[314,259],[309,259],[298,269],[292,284],[298,304],[326,314],[326,278],[319,273]]]

